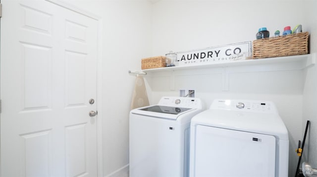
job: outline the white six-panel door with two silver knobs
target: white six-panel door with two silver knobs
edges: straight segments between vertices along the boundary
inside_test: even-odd
[[[98,21],[1,0],[1,177],[97,176]]]

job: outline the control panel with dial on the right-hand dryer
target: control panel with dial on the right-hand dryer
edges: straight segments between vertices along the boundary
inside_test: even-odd
[[[241,110],[250,112],[277,113],[275,105],[270,101],[257,100],[225,100],[216,99],[211,104],[211,109]]]

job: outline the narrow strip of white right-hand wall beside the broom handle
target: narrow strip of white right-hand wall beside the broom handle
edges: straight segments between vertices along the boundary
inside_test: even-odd
[[[309,25],[311,53],[317,53],[317,1],[306,2],[306,24]],[[313,168],[317,168],[317,66],[309,68],[304,75],[305,86],[303,94],[303,135],[307,120],[310,120],[310,131],[306,139],[302,162],[308,161]]]

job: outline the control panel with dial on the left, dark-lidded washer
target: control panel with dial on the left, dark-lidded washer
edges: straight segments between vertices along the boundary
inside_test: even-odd
[[[162,97],[158,105],[172,106],[172,107],[186,107],[186,108],[201,108],[202,102],[199,98]]]

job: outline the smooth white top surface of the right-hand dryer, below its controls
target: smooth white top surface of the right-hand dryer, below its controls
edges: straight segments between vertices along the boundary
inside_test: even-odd
[[[277,139],[288,140],[288,132],[284,122],[278,114],[274,113],[208,109],[195,115],[191,120],[191,125],[206,125],[273,135]]]

